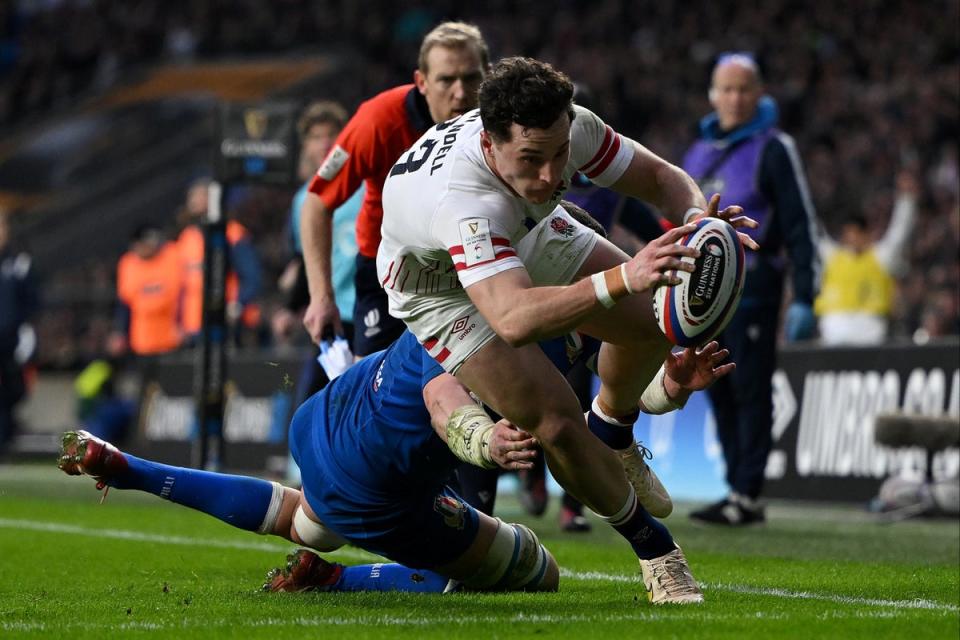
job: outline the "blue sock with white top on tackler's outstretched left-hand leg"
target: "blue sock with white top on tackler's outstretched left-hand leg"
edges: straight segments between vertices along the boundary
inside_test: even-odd
[[[271,533],[260,529],[270,520],[268,513],[279,510],[283,500],[283,487],[279,484],[248,476],[173,467],[129,453],[123,455],[129,468],[107,479],[109,486],[146,491],[207,513],[234,527]]]

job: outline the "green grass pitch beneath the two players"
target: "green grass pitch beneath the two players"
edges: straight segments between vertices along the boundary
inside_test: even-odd
[[[508,499],[500,515],[532,525],[563,567],[559,593],[266,594],[291,544],[153,496],[98,498],[52,463],[0,467],[0,638],[960,637],[956,521],[775,504],[768,524],[727,531],[679,508],[667,524],[706,602],[653,607],[611,530],[563,534],[553,510],[533,519]]]

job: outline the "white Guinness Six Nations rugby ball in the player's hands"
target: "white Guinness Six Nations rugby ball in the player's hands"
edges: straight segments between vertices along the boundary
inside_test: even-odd
[[[697,228],[678,240],[695,247],[700,257],[683,258],[693,273],[679,274],[680,284],[660,286],[653,294],[653,312],[667,339],[681,347],[713,340],[730,322],[743,293],[745,260],[740,237],[729,223],[703,218]]]

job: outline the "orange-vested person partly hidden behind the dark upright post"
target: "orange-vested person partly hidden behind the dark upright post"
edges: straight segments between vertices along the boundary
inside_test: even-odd
[[[184,208],[178,215],[183,230],[177,237],[183,277],[183,308],[180,329],[186,344],[196,340],[203,325],[203,229],[207,213],[210,181],[195,180],[187,189]],[[260,258],[247,229],[236,220],[227,222],[227,324],[239,340],[243,330],[255,330],[260,322],[256,298],[260,295]]]

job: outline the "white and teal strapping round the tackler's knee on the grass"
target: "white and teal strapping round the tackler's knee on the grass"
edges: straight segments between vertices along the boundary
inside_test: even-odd
[[[487,556],[464,586],[480,591],[536,589],[546,574],[549,552],[522,524],[498,523]]]

